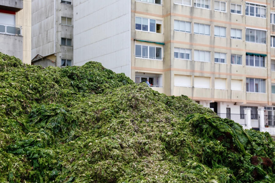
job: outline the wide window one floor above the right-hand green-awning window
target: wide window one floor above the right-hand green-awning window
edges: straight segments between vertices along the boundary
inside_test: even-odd
[[[245,41],[266,44],[266,30],[255,30],[246,28]]]

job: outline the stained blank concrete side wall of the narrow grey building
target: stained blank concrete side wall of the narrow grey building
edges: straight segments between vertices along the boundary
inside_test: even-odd
[[[31,59],[37,54],[46,56],[55,53],[55,2],[56,0],[32,0]]]

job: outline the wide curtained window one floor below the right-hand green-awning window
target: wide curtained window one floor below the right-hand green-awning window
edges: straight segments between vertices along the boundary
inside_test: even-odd
[[[266,80],[258,78],[246,78],[246,91],[265,93],[266,92]]]

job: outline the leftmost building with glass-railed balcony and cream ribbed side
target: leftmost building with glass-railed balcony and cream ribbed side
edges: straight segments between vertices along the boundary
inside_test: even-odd
[[[31,0],[0,0],[0,52],[31,63]]]

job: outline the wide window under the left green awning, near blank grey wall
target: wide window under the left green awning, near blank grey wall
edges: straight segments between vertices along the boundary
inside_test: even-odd
[[[136,45],[136,57],[146,59],[162,59],[161,47]]]

